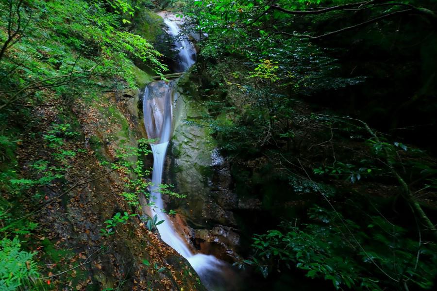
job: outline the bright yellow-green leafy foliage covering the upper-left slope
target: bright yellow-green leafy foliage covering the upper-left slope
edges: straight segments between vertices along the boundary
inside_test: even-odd
[[[122,26],[129,21],[124,16],[132,16],[135,9],[126,1],[111,1],[116,13],[107,12],[105,1],[34,0],[25,4],[28,7],[22,7],[20,15],[22,21],[30,21],[16,48],[8,49],[1,60],[0,94],[5,89],[23,88],[90,67],[95,67],[90,74],[96,77],[118,77],[135,87],[130,58],[144,62],[157,73],[166,69],[158,61],[160,53],[150,43]],[[5,1],[0,5],[0,19],[6,25],[8,5]],[[24,26],[24,22],[21,24]],[[71,81],[52,79],[43,84],[53,87],[57,94],[69,94],[78,84],[90,85],[89,80],[79,74]],[[41,101],[46,94],[36,90],[29,97]]]

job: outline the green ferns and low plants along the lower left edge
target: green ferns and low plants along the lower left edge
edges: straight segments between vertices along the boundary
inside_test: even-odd
[[[59,116],[59,118],[65,119],[65,116]],[[0,259],[1,263],[6,264],[6,267],[1,266],[2,270],[7,272],[7,275],[1,274],[1,290],[22,290],[24,286],[31,288],[34,284],[41,283],[35,281],[39,275],[35,273],[37,269],[32,260],[34,253],[27,252],[25,248],[20,249],[19,242],[26,242],[32,238],[38,226],[28,217],[28,213],[22,211],[24,206],[20,207],[21,202],[23,196],[26,196],[25,205],[27,207],[34,207],[34,203],[39,205],[41,199],[44,199],[43,192],[40,191],[41,187],[50,185],[56,179],[64,178],[66,169],[70,167],[70,159],[76,155],[74,149],[68,148],[74,148],[69,147],[70,143],[80,134],[72,130],[70,124],[60,123],[52,124],[46,132],[41,132],[39,135],[33,133],[33,135],[40,138],[41,141],[45,141],[47,148],[50,148],[50,152],[45,156],[46,159],[37,160],[37,157],[31,156],[31,159],[28,159],[24,164],[28,174],[25,177],[22,174],[20,176],[16,174],[17,164],[9,164],[9,170],[5,171],[6,174],[10,171],[14,175],[8,176],[2,173],[0,176],[2,190],[7,189],[7,194],[2,195],[0,199],[0,234],[4,237],[2,244],[5,245],[2,245]],[[11,146],[11,149],[15,149],[15,146]],[[14,235],[17,237],[11,242],[8,238]],[[25,243],[24,245],[29,244]],[[20,250],[17,251],[17,249]],[[9,260],[3,259],[3,255],[8,252]],[[20,261],[23,258],[25,261]],[[15,266],[15,269],[11,266]],[[18,285],[21,287],[17,287]],[[35,290],[38,288],[35,287]]]

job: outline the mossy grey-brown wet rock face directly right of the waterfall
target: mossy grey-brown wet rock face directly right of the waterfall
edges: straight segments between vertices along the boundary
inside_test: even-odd
[[[163,181],[175,185],[173,191],[186,198],[164,199],[167,209],[176,209],[185,218],[183,232],[195,247],[233,262],[238,258],[239,236],[232,210],[238,199],[232,191],[230,165],[203,125],[206,109],[186,94],[192,92],[188,85],[186,80],[179,82]]]

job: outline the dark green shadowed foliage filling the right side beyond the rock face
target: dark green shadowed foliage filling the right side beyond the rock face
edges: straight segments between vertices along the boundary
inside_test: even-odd
[[[417,58],[424,49],[415,43],[428,42],[428,37],[433,38],[428,46],[435,43],[435,28],[428,30],[421,25],[424,19],[434,22],[435,16],[431,16],[433,20],[428,16],[419,16],[420,6],[435,9],[435,5],[428,0],[377,1],[378,4],[370,1],[360,3],[357,9],[315,12],[353,2],[358,1],[275,1],[274,5],[296,10],[296,13],[286,13],[272,8],[270,5],[273,2],[265,0],[186,1],[185,16],[196,21],[198,30],[208,33],[208,38],[199,45],[199,59],[203,63],[196,67],[200,76],[207,75],[199,87],[202,101],[208,107],[207,117],[211,118],[208,126],[221,149],[233,155],[232,166],[239,169],[244,164],[249,168],[249,174],[235,171],[236,187],[238,183],[250,185],[251,174],[260,167],[258,161],[267,157],[269,161],[266,163],[274,164],[272,172],[288,175],[290,191],[284,195],[288,195],[287,202],[293,204],[288,208],[290,212],[297,211],[297,205],[311,199],[305,198],[311,195],[303,194],[317,193],[330,199],[336,196],[332,204],[346,205],[339,212],[316,208],[308,218],[303,219],[302,224],[297,223],[301,219],[298,217],[295,224],[284,223],[279,229],[255,236],[253,246],[256,254],[251,260],[243,260],[237,265],[240,268],[256,266],[265,276],[277,269],[282,275],[287,268],[302,269],[310,278],[332,282],[336,289],[431,289],[436,276],[436,268],[433,267],[436,246],[422,241],[420,231],[423,229],[420,226],[416,231],[413,219],[419,216],[417,213],[408,222],[404,221],[404,213],[393,215],[398,220],[382,216],[386,215],[387,209],[381,206],[374,206],[375,213],[366,210],[359,214],[351,213],[365,208],[365,203],[354,200],[358,195],[370,200],[372,206],[377,200],[372,196],[375,194],[378,198],[383,196],[391,204],[400,192],[399,187],[393,185],[396,173],[405,180],[407,187],[411,185],[414,188],[411,191],[415,196],[420,197],[419,193],[435,196],[436,179],[430,178],[436,174],[435,159],[429,156],[423,158],[426,156],[423,151],[420,157],[419,150],[406,145],[406,140],[425,136],[429,130],[412,134],[405,138],[405,142],[399,137],[392,140],[388,136],[381,137],[383,134],[376,130],[379,140],[373,136],[369,139],[369,131],[362,124],[355,125],[358,122],[351,116],[369,118],[367,120],[370,121],[371,114],[366,111],[380,110],[380,116],[384,118],[390,112],[398,114],[398,95],[403,94],[403,88],[410,88],[413,83],[410,79],[415,79],[417,74],[417,71],[405,73],[398,65],[402,63],[405,68],[408,63],[408,66],[417,65],[419,69],[430,63],[432,58],[428,57],[428,61],[423,56],[420,60]],[[408,5],[418,6],[419,9]],[[406,12],[404,16],[387,17],[355,29],[336,32],[407,8],[415,11],[414,17]],[[302,16],[306,12],[308,15]],[[403,22],[405,19],[408,22]],[[336,33],[318,40],[311,38],[325,32]],[[400,45],[401,39],[405,46]],[[416,49],[405,52],[407,46],[416,46]],[[366,50],[372,53],[364,53]],[[390,61],[381,62],[381,56]],[[393,75],[396,70],[402,71],[396,77],[400,81],[397,85],[386,85],[387,76]],[[427,77],[420,75],[417,79],[434,80],[435,68],[428,73]],[[428,85],[423,85],[426,88],[423,90],[435,96],[435,90],[431,93]],[[397,104],[393,111],[385,106],[375,109],[377,104],[387,104],[380,99],[386,99],[394,92],[385,88],[395,86],[401,89],[396,90],[393,99],[387,102],[389,106]],[[371,89],[363,89],[365,87]],[[405,93],[405,99],[410,100],[417,95],[417,90],[418,87]],[[361,91],[364,93],[361,94]],[[293,102],[295,98],[299,101]],[[405,102],[407,109],[399,116],[400,119],[411,117],[411,122],[398,120],[396,123],[389,117],[385,120],[386,124],[379,119],[370,122],[379,130],[391,129],[401,137],[400,129],[413,132],[413,127],[404,129],[399,124],[424,124],[422,120],[426,118],[412,117],[410,106],[417,106],[418,103]],[[362,103],[367,106],[360,107]],[[432,101],[424,101],[423,107],[427,106],[435,109]],[[346,112],[344,115],[350,115],[341,122],[328,117],[309,116],[308,112],[325,111],[326,107],[336,111],[341,107]],[[308,121],[308,118],[312,120]],[[426,120],[435,125],[434,118]],[[200,123],[197,120],[190,122]],[[392,129],[395,124],[400,128]],[[331,139],[319,140],[319,133],[324,136],[325,129],[328,132],[330,129]],[[428,140],[424,142],[429,143]],[[313,147],[315,150],[311,150]],[[434,165],[430,160],[434,161]],[[312,173],[307,169],[312,169]],[[308,178],[297,178],[299,176]],[[311,180],[313,178],[315,181]],[[329,185],[324,184],[323,181],[328,178]],[[347,186],[335,179],[348,180],[354,185]],[[367,191],[364,182],[374,182],[369,188],[380,190]],[[266,186],[267,183],[261,185]],[[343,191],[344,195],[336,195]],[[268,195],[262,194],[265,202]],[[274,195],[278,204],[281,203],[281,194]],[[393,202],[393,208],[399,207],[398,203]],[[426,206],[428,215],[435,216],[432,203],[420,199],[420,204]],[[270,214],[278,216],[277,213]]]

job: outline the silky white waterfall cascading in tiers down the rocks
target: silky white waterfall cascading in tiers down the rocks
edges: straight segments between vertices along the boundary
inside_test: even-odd
[[[171,36],[179,37],[179,39],[186,38],[185,35],[180,35],[180,28],[175,19],[172,20],[167,15],[164,15],[163,18]],[[184,72],[195,63],[196,50],[188,40],[175,40],[173,45],[178,49],[178,70]],[[214,256],[193,253],[188,247],[189,244],[186,239],[175,230],[168,215],[161,211],[164,209],[164,204],[159,185],[162,182],[168,142],[173,132],[173,104],[178,98],[175,85],[175,81],[169,81],[168,83],[154,81],[147,86],[144,92],[144,125],[148,138],[155,140],[155,143],[151,144],[153,172],[150,202],[155,205],[151,210],[152,216],[156,214],[158,221],[165,220],[164,223],[157,226],[162,240],[188,260],[207,289],[219,290],[221,288],[218,287],[220,285],[218,281],[221,280],[220,277],[222,276],[220,269],[224,262]]]

